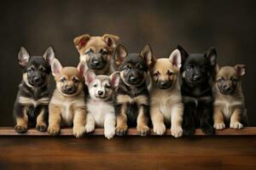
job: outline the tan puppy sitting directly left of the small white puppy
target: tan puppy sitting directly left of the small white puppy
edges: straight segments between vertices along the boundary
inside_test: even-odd
[[[61,127],[72,125],[73,135],[77,138],[85,133],[84,69],[84,62],[80,62],[78,68],[63,68],[58,59],[52,61],[56,88],[49,101],[50,135],[55,136],[61,132]]]

